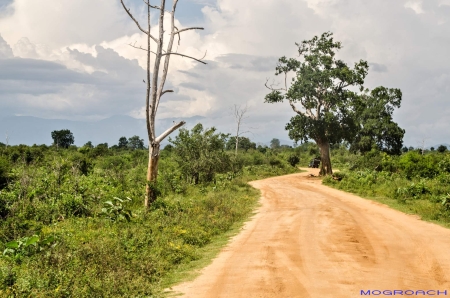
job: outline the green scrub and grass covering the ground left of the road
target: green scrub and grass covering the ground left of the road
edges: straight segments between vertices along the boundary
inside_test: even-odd
[[[130,139],[0,146],[0,297],[163,296],[251,214],[259,193],[248,181],[297,172],[296,157],[307,163],[299,148],[236,157],[227,138],[181,130],[161,151],[148,212],[148,154]]]

